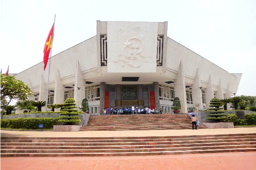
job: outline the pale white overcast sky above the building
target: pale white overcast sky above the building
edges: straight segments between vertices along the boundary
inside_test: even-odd
[[[237,95],[256,96],[256,0],[0,0],[3,73],[43,61],[55,13],[52,55],[95,36],[96,20],[168,21],[168,37],[243,73]]]

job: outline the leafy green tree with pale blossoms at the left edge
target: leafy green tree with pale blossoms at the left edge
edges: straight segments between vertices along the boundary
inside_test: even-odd
[[[24,82],[16,80],[14,76],[1,74],[1,106],[7,106],[11,100],[27,100],[32,91]]]

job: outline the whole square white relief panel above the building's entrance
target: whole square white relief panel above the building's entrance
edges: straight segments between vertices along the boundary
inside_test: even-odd
[[[156,72],[157,23],[122,23],[108,22],[108,72]]]

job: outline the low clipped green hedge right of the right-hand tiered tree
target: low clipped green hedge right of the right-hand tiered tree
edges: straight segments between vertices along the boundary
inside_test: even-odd
[[[237,115],[226,115],[224,122],[234,122],[234,125],[256,125],[256,114],[245,114],[245,119],[238,119]]]

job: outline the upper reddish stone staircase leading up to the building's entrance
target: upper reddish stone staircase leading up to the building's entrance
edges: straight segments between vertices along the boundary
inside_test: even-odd
[[[200,128],[207,128],[202,123]],[[168,130],[192,129],[191,119],[187,114],[155,114],[155,115],[99,115],[90,116],[88,130]]]

